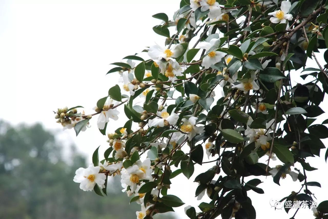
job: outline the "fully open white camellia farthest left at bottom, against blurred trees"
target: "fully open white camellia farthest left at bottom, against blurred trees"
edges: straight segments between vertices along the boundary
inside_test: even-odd
[[[80,189],[83,191],[92,191],[97,184],[101,189],[105,188],[106,175],[99,173],[100,167],[90,165],[87,169],[80,167],[75,171],[73,181],[80,183]]]

